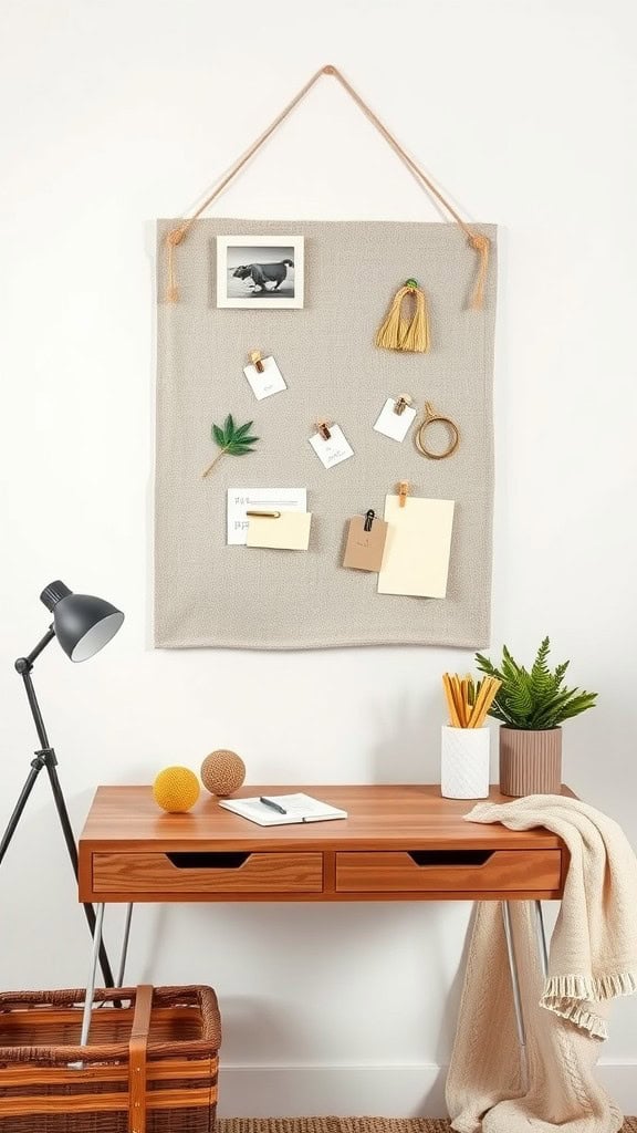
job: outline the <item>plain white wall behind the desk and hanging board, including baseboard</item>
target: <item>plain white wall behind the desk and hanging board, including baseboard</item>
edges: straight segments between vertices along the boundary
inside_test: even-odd
[[[188,208],[333,61],[470,219],[501,225],[493,645],[528,657],[549,632],[600,690],[567,730],[566,777],[637,841],[632,0],[3,0],[0,20],[0,825],[34,747],[12,661],[58,577],[127,614],[91,664],[53,644],[37,665],[76,829],[97,783],[221,746],[256,782],[436,777],[440,673],[470,654],[150,645],[153,219]],[[438,215],[333,79],[215,212]],[[286,719],[266,712],[283,695]],[[148,906],[130,977],[218,988],[226,1113],[435,1113],[466,915]],[[0,917],[2,987],[83,982],[44,780]],[[618,1004],[603,1051],[634,1113],[636,1024],[637,1002]]]

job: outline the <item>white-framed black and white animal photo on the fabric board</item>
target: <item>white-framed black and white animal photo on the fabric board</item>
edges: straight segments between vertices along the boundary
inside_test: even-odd
[[[247,238],[220,238],[219,306],[301,307],[303,240],[260,244]],[[300,263],[299,263],[300,261]]]

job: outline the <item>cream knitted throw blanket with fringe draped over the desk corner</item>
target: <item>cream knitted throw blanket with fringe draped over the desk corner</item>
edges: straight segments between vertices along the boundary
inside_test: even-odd
[[[447,1081],[459,1133],[615,1133],[622,1115],[595,1081],[608,1002],[637,991],[637,859],[612,819],[577,799],[529,795],[481,803],[472,823],[543,826],[570,852],[543,988],[533,906],[511,902],[524,1007],[528,1089],[499,902],[477,906]]]

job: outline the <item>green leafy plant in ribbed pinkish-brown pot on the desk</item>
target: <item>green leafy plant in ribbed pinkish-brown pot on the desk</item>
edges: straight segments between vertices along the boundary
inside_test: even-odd
[[[562,782],[562,729],[566,719],[595,704],[597,693],[567,688],[564,661],[549,668],[551,642],[544,638],[530,670],[518,665],[507,646],[495,665],[481,653],[481,672],[502,682],[489,715],[499,719],[500,790],[515,798],[525,794],[558,794]]]

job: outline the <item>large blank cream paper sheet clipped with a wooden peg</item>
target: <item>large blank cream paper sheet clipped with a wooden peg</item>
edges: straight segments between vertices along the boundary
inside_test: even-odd
[[[379,594],[444,598],[453,527],[453,500],[385,496],[389,523]]]

